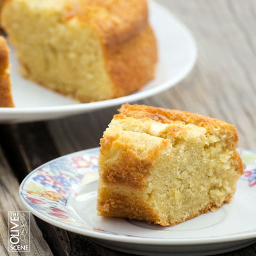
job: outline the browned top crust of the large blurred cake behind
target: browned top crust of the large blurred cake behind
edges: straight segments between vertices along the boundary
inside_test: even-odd
[[[0,0],[1,1],[1,0]],[[147,0],[9,0],[28,4],[33,12],[58,13],[60,22],[92,26],[104,45],[137,36],[148,24]]]

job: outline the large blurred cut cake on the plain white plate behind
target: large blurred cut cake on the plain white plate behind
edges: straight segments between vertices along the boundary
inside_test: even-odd
[[[24,76],[81,102],[127,95],[154,77],[146,0],[9,0],[1,23]]]

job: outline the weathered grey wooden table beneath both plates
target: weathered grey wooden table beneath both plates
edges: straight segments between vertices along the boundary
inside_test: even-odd
[[[198,61],[179,85],[137,103],[221,118],[237,127],[239,147],[256,150],[256,1],[158,1],[191,29],[198,44]],[[8,211],[25,210],[18,195],[21,180],[46,161],[98,147],[116,108],[49,122],[0,126],[0,255],[9,255]],[[31,216],[31,252],[20,255],[126,254]],[[256,255],[256,243],[222,255]]]

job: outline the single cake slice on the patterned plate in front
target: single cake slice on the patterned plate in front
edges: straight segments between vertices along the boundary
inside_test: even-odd
[[[230,202],[243,164],[233,125],[125,104],[100,140],[101,216],[172,226]]]

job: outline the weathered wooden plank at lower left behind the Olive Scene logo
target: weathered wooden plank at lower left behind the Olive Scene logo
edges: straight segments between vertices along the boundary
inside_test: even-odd
[[[8,211],[27,211],[19,198],[19,182],[8,165],[0,148],[0,255],[8,253]],[[42,232],[31,215],[31,252],[12,252],[12,255],[52,255]]]

